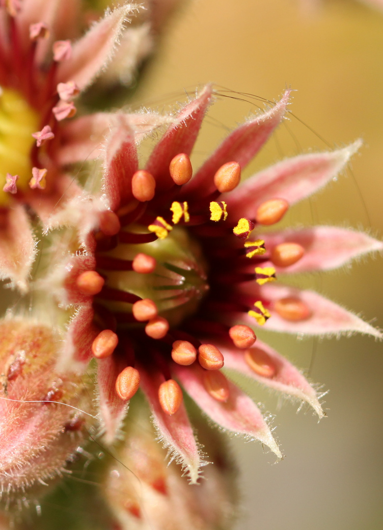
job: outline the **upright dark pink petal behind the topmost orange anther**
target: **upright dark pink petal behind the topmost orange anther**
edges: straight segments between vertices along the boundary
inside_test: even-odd
[[[179,153],[191,153],[211,97],[212,87],[206,85],[195,100],[178,112],[173,125],[154,147],[145,169],[156,179],[157,189],[166,190],[173,185],[169,175],[170,162]]]

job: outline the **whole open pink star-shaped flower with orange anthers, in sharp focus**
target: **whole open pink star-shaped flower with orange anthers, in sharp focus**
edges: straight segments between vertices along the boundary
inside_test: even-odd
[[[193,176],[189,154],[212,102],[210,85],[173,117],[145,169],[139,169],[134,131],[121,121],[105,142],[99,191],[73,197],[48,223],[53,231],[66,226],[79,241],[79,251],[60,258],[42,281],[60,305],[76,307],[59,365],[98,359],[106,443],[118,435],[140,386],[160,439],[191,482],[201,457],[181,387],[222,429],[258,439],[281,457],[258,407],[223,365],[324,415],[314,388],[256,341],[251,326],[381,337],[319,294],[274,282],[278,272],[326,270],[382,250],[351,229],[263,233],[264,225],[276,224],[287,208],[332,180],[360,146],[288,158],[239,184],[241,169],[283,120],[289,94],[234,130]],[[61,249],[67,236],[51,237]]]

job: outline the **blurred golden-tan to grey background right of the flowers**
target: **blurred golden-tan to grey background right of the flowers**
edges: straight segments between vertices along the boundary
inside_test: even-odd
[[[144,70],[134,102],[167,109],[195,86],[213,81],[220,94],[246,92],[276,101],[291,86],[288,127],[281,126],[246,175],[284,156],[364,140],[337,182],[295,206],[286,222],[335,224],[383,234],[383,11],[352,0],[195,0],[181,6]],[[219,86],[220,85],[220,86]],[[233,92],[224,92],[228,87]],[[182,95],[183,94],[183,95]],[[259,100],[220,96],[196,149],[197,165],[236,122],[264,108]],[[306,125],[302,125],[302,120]],[[315,131],[315,134],[311,129]],[[321,139],[323,138],[323,139]],[[366,320],[383,326],[382,261],[294,278]],[[375,321],[373,319],[376,319]],[[233,440],[242,506],[237,530],[378,530],[381,504],[382,348],[368,337],[267,340],[312,381],[330,389],[328,418],[251,386],[254,399],[277,412],[276,436],[285,458],[259,444]],[[214,499],[212,499],[214,502]]]

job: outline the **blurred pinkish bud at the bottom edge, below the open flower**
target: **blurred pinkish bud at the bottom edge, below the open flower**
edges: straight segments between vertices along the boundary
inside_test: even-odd
[[[167,465],[166,451],[155,441],[146,411],[137,409],[129,421],[124,445],[107,470],[104,492],[120,530],[229,529],[233,515],[232,469],[226,461],[219,433],[198,422],[198,435],[209,460],[207,480],[191,485],[175,462]],[[206,429],[208,427],[206,426]]]

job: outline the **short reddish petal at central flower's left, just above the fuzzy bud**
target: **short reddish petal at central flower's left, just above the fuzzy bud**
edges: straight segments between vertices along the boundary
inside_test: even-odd
[[[92,358],[92,342],[99,331],[93,324],[91,304],[79,306],[68,326],[62,351],[58,359],[59,371],[84,369]]]

